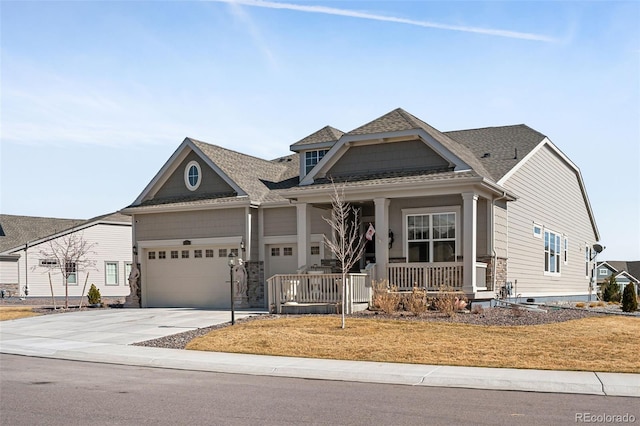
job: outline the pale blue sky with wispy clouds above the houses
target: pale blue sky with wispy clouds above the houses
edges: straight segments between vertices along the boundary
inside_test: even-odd
[[[602,256],[640,259],[640,2],[0,8],[2,213],[123,208],[185,136],[271,159],[401,107],[547,135],[580,167]]]

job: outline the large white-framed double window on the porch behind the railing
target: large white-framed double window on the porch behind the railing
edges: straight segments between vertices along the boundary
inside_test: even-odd
[[[455,262],[456,213],[407,215],[409,262]]]

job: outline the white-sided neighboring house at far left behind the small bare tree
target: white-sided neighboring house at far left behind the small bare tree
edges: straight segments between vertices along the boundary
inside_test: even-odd
[[[19,297],[50,297],[50,271],[54,295],[64,296],[62,272],[42,252],[71,233],[93,245],[95,266],[75,270],[79,268],[69,265],[69,296],[81,295],[88,275],[85,295],[95,284],[102,296],[124,300],[129,294],[131,218],[119,213],[89,220],[0,215],[0,288]]]

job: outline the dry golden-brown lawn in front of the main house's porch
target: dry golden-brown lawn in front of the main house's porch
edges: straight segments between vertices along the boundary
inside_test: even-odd
[[[187,349],[431,365],[640,373],[640,319],[593,317],[535,326],[478,326],[302,316],[248,321]]]

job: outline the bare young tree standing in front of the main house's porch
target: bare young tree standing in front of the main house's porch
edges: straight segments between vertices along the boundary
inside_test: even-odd
[[[325,245],[331,250],[339,263],[342,272],[342,328],[345,328],[345,311],[347,308],[347,274],[362,257],[366,246],[366,239],[360,235],[358,210],[344,201],[344,185],[338,187],[331,180],[333,192],[331,194],[332,217],[323,219],[331,226],[333,238],[324,237]]]

